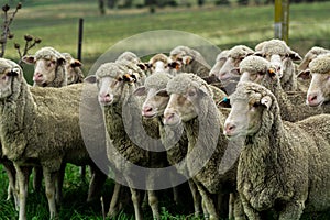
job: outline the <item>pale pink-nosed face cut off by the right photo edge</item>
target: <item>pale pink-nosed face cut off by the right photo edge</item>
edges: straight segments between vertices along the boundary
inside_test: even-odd
[[[310,107],[321,106],[330,100],[330,73],[311,74],[311,81],[307,91],[307,105]]]

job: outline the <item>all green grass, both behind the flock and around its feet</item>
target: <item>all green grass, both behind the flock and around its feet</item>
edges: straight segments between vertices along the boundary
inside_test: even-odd
[[[11,1],[9,1],[11,2]],[[56,2],[56,3],[55,3]],[[72,3],[65,3],[72,2]],[[301,3],[290,6],[289,45],[304,55],[311,46],[330,47],[330,2]],[[24,34],[42,38],[42,46],[53,46],[62,52],[77,53],[78,19],[84,18],[82,63],[85,74],[108,48],[118,42],[147,31],[176,30],[197,34],[217,45],[230,48],[237,44],[251,47],[258,42],[273,37],[273,6],[262,7],[215,7],[204,8],[164,8],[156,13],[148,9],[130,9],[107,11],[101,16],[95,1],[32,1],[19,11],[11,28],[15,37],[8,44],[7,58],[18,61],[13,43],[23,43]],[[216,57],[215,57],[216,58]],[[24,66],[26,78],[31,80],[32,68]],[[7,177],[0,166],[0,220],[16,219],[12,201],[6,201]],[[32,188],[32,187],[30,187]],[[88,185],[78,177],[78,168],[68,166],[65,177],[64,204],[61,219],[102,219],[101,204],[85,204]],[[102,191],[106,211],[112,191],[109,180]],[[169,198],[161,202],[162,219],[193,219],[190,210],[175,207]],[[28,219],[44,220],[48,218],[47,202],[44,194],[30,191]],[[146,219],[151,219],[145,209]],[[133,219],[132,207],[128,206],[119,219]],[[304,219],[330,219],[329,213],[305,216]]]

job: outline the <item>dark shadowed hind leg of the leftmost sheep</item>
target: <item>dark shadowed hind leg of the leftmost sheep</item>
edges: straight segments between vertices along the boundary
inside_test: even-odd
[[[101,189],[107,180],[107,175],[102,173],[98,167],[94,167],[92,176],[88,189],[88,198],[87,201],[94,201],[100,198]]]

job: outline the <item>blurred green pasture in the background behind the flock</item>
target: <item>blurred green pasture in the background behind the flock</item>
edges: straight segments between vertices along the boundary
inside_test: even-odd
[[[40,2],[40,1],[35,1]],[[220,48],[237,44],[254,46],[273,37],[274,8],[215,7],[165,8],[155,14],[148,9],[107,10],[101,16],[94,1],[26,6],[12,25],[15,37],[9,42],[6,57],[18,59],[13,43],[23,42],[24,34],[43,40],[38,47],[51,45],[59,51],[77,53],[78,19],[84,18],[82,62],[88,73],[95,61],[116,43],[134,34],[155,30],[185,31],[205,37]],[[329,47],[330,2],[290,6],[289,45],[298,53],[311,46]],[[29,69],[31,72],[31,69]]]

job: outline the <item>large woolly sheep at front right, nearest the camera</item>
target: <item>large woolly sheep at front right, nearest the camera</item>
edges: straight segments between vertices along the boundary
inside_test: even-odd
[[[275,96],[255,82],[240,82],[224,123],[230,140],[244,138],[238,190],[249,219],[299,219],[330,207],[330,116],[299,122],[280,118]],[[311,129],[312,128],[312,129]]]

